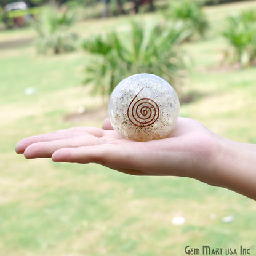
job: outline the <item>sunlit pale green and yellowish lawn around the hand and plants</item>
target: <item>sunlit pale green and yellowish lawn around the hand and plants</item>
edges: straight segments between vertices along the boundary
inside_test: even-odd
[[[206,8],[212,25],[206,38],[183,46],[189,69],[182,91],[194,100],[181,106],[180,115],[232,140],[256,143],[256,68],[220,67],[228,47],[219,34],[225,17],[250,7],[256,1]],[[74,30],[86,36],[129,19],[79,22]],[[33,37],[31,28],[1,31],[0,46]],[[106,105],[82,87],[89,61],[82,50],[38,56],[29,41],[0,47],[0,255],[169,256],[186,255],[188,245],[222,247],[222,255],[231,248],[239,255],[241,245],[256,246],[256,204],[232,191],[190,178],[134,177],[95,164],[28,161],[15,154],[23,137],[101,126]],[[233,222],[223,223],[229,215]],[[173,225],[176,216],[185,223]]]

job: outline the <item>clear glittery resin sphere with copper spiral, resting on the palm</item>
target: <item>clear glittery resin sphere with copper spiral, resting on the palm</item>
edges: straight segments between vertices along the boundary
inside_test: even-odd
[[[108,102],[108,118],[114,130],[137,141],[166,138],[179,111],[174,88],[154,74],[135,74],[122,80]]]

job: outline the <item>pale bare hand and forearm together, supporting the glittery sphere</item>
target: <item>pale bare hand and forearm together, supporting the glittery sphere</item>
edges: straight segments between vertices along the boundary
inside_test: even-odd
[[[102,129],[74,127],[28,137],[15,150],[27,159],[94,162],[132,175],[195,178],[256,199],[256,145],[220,137],[193,119],[178,118],[161,140],[127,140],[105,119]]]

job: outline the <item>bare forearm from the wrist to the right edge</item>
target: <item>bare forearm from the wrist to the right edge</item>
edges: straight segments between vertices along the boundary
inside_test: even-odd
[[[256,145],[217,140],[213,183],[256,200]]]

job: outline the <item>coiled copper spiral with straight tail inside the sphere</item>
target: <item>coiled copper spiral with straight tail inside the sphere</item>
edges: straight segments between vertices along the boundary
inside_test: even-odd
[[[143,88],[140,90],[140,92]],[[138,92],[138,94],[140,94]],[[151,126],[159,117],[159,106],[150,98],[132,99],[127,110],[127,116],[132,124],[139,127]]]

